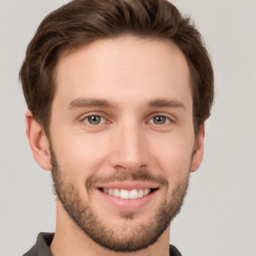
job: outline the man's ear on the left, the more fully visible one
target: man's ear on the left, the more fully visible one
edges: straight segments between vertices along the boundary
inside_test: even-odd
[[[35,161],[45,170],[51,170],[48,139],[30,110],[25,113],[26,136]]]

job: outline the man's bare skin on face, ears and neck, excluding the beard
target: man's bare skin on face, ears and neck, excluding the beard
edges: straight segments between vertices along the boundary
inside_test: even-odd
[[[195,171],[203,157],[204,127],[195,137],[189,67],[183,53],[171,42],[120,37],[94,41],[64,52],[57,65],[57,91],[52,101],[50,136],[61,172],[74,182],[79,196],[109,227],[146,224],[164,196],[179,180]],[[72,105],[81,98],[108,100],[111,106]],[[148,105],[149,101],[171,101]],[[80,102],[80,101],[79,101]],[[89,115],[102,116],[91,125]],[[166,116],[155,124],[154,116]],[[48,139],[31,112],[26,113],[26,134],[37,163],[51,170]],[[193,151],[195,153],[193,154]],[[193,157],[191,157],[193,155]],[[131,210],[133,218],[84,187],[91,175],[134,173],[146,169],[168,182],[148,203]],[[127,209],[124,210],[127,212]],[[169,226],[158,241],[129,255],[168,255]],[[102,248],[82,232],[57,199],[56,231],[50,245],[58,255],[125,255]]]

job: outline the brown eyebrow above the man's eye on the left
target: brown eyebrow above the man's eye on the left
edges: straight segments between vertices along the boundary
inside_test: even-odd
[[[82,107],[107,107],[116,108],[116,104],[113,102],[101,99],[101,98],[76,98],[72,100],[68,105],[68,109],[82,108]]]

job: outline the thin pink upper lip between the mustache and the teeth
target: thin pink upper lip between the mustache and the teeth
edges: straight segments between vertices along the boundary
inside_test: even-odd
[[[139,189],[139,188],[158,188],[159,185],[149,183],[149,182],[142,182],[142,181],[126,181],[126,182],[111,182],[105,184],[97,184],[95,188],[118,188],[118,189]]]

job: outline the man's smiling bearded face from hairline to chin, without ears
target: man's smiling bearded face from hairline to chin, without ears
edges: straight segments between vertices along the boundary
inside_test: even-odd
[[[154,243],[198,161],[185,57],[133,37],[63,54],[50,137],[58,200],[83,234],[115,251]]]

